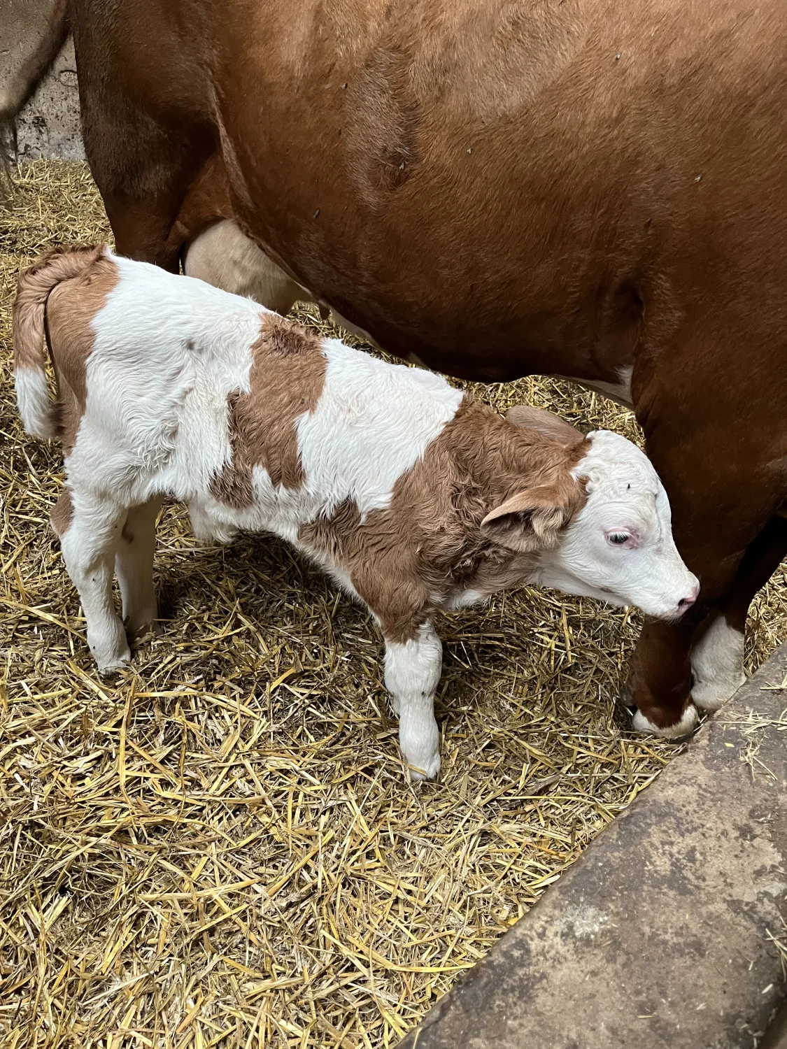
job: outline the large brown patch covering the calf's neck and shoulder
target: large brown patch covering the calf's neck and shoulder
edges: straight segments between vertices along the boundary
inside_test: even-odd
[[[329,518],[302,526],[299,538],[319,560],[347,572],[386,640],[408,641],[435,600],[518,582],[536,552],[558,541],[584,502],[571,470],[587,451],[583,440],[567,448],[466,397],[423,459],[397,480],[388,509],[361,520],[355,504],[344,502]],[[550,491],[554,512],[524,553],[483,521],[527,489]]]

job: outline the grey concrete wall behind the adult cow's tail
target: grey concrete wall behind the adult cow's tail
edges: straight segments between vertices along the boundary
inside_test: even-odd
[[[34,49],[52,0],[0,0],[0,91]],[[17,122],[20,159],[84,159],[73,45],[69,40]]]

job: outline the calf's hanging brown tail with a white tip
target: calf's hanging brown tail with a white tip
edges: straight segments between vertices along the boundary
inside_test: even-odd
[[[20,274],[14,302],[14,385],[25,432],[42,441],[57,435],[58,411],[46,389],[46,300],[62,280],[85,272],[103,244],[56,248]]]

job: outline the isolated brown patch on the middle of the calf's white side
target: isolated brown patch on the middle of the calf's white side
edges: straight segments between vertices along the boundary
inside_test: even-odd
[[[295,423],[315,410],[325,382],[319,338],[276,314],[262,315],[252,357],[249,392],[227,399],[232,458],[210,484],[211,495],[235,510],[252,504],[255,466],[277,487],[303,484]]]

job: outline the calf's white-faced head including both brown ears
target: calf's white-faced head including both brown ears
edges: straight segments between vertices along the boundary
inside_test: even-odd
[[[547,416],[546,419],[544,416]],[[508,418],[567,450],[587,451],[561,479],[525,489],[484,520],[495,540],[530,553],[532,582],[677,619],[699,593],[673,540],[669,501],[647,457],[625,437],[587,438],[557,416],[525,406]]]

